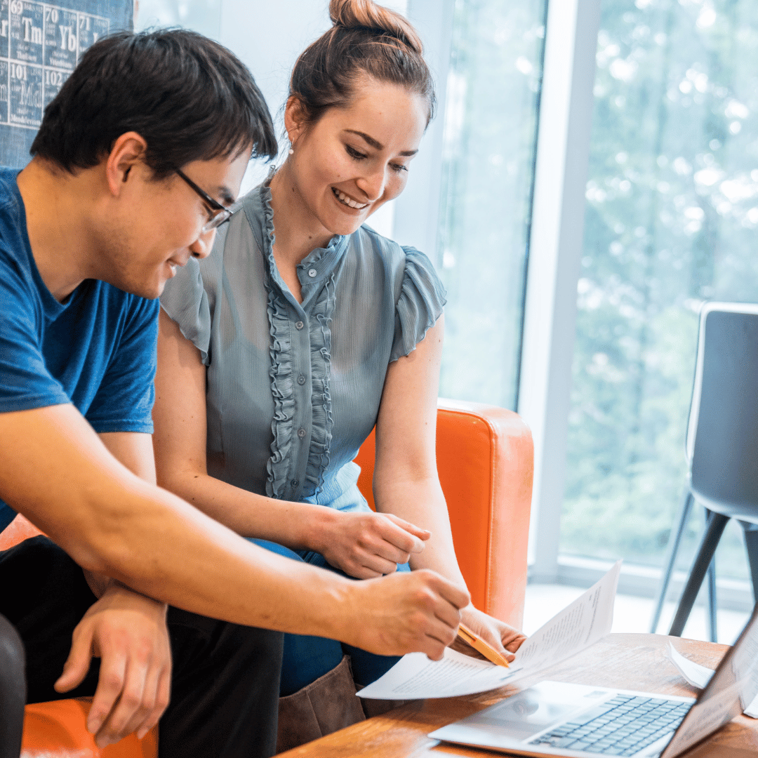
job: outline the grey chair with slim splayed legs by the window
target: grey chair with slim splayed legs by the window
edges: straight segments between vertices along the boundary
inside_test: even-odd
[[[703,306],[686,448],[688,481],[669,538],[651,631],[658,626],[684,526],[697,501],[705,508],[706,527],[669,634],[681,637],[707,572],[710,637],[716,641],[713,556],[730,518],[737,518],[744,531],[753,603],[758,591],[758,305]]]

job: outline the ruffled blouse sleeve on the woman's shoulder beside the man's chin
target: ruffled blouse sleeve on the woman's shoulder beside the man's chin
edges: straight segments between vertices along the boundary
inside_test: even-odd
[[[161,308],[177,322],[181,333],[199,349],[202,362],[209,365],[211,308],[196,258],[189,258],[186,266],[180,268],[173,279],[168,280],[161,295]]]

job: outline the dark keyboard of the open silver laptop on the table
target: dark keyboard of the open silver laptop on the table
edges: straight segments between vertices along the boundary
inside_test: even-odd
[[[674,731],[691,707],[675,700],[618,695],[529,744],[631,756]]]

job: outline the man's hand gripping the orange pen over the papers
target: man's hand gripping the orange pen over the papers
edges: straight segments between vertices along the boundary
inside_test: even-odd
[[[426,653],[440,660],[456,637],[468,591],[428,569],[356,581],[340,639],[371,653]],[[351,618],[352,617],[352,618]]]

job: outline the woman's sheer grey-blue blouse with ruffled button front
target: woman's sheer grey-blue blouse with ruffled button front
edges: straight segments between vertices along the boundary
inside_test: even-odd
[[[367,510],[352,462],[377,420],[387,367],[442,313],[429,259],[363,226],[277,271],[271,191],[241,201],[211,255],[161,305],[207,368],[208,474],[281,500]]]

